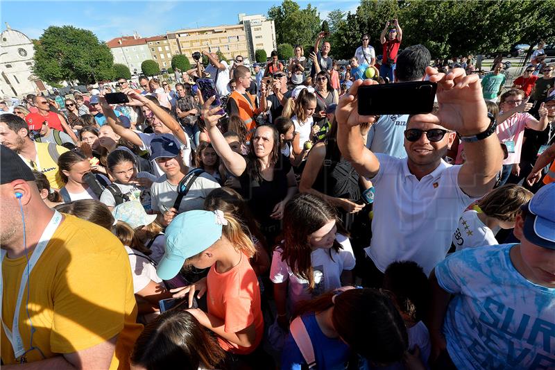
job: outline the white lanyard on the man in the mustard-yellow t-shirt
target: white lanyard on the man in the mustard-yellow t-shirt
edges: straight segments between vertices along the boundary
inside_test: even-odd
[[[22,280],[21,280],[21,283],[19,284],[19,293],[17,294],[17,301],[15,303],[15,312],[13,313],[13,323],[12,323],[13,332],[8,329],[8,326],[6,326],[6,324],[2,320],[2,326],[4,328],[4,332],[6,333],[6,337],[8,337],[8,339],[10,340],[10,343],[12,344],[15,358],[19,358],[19,356],[25,353],[23,339],[22,339],[22,336],[19,334],[19,310],[22,306],[23,294],[27,286],[27,278],[28,276],[31,275],[31,271],[33,270],[33,267],[35,267],[35,264],[37,264],[40,256],[44,252],[44,249],[46,249],[46,245],[50,242],[52,235],[54,235],[54,232],[60,225],[61,221],[62,221],[62,214],[58,211],[54,211],[54,215],[50,220],[50,223],[44,229],[44,232],[42,233],[39,239],[39,242],[35,247],[35,251],[33,251],[33,255],[31,255],[31,259],[29,260],[28,265],[26,267],[27,271],[24,271],[22,275]],[[4,260],[4,257],[6,257],[6,251],[2,250],[2,262]],[[1,274],[0,274],[0,279],[1,279]],[[2,294],[3,294],[3,284],[1,284],[1,280],[0,280],[0,296],[2,296]],[[0,299],[3,300],[3,296]]]

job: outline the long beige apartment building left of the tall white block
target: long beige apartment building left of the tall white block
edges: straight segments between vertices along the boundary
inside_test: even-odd
[[[167,33],[170,53],[184,54],[192,62],[195,51],[221,51],[227,60],[241,55],[249,57],[248,40],[243,24],[189,28]]]

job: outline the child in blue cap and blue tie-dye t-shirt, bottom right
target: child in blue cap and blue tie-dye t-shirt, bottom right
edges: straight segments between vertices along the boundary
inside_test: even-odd
[[[514,235],[432,271],[438,369],[555,369],[555,183],[522,206]]]

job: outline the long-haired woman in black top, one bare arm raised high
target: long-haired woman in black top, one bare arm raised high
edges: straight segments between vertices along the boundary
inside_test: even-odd
[[[220,108],[210,108],[214,97],[208,99],[202,110],[210,142],[225,167],[239,177],[240,193],[248,201],[253,216],[260,223],[268,243],[280,231],[285,203],[297,192],[295,174],[289,158],[280,151],[278,131],[274,126],[258,126],[253,134],[250,151],[246,157],[232,151],[216,127]]]

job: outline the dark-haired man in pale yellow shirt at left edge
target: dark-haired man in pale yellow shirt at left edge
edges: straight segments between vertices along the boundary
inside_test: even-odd
[[[10,114],[0,116],[1,144],[18,153],[28,167],[46,175],[51,188],[60,189],[64,183],[58,174],[58,157],[68,150],[56,144],[33,142],[29,130],[21,117]]]

